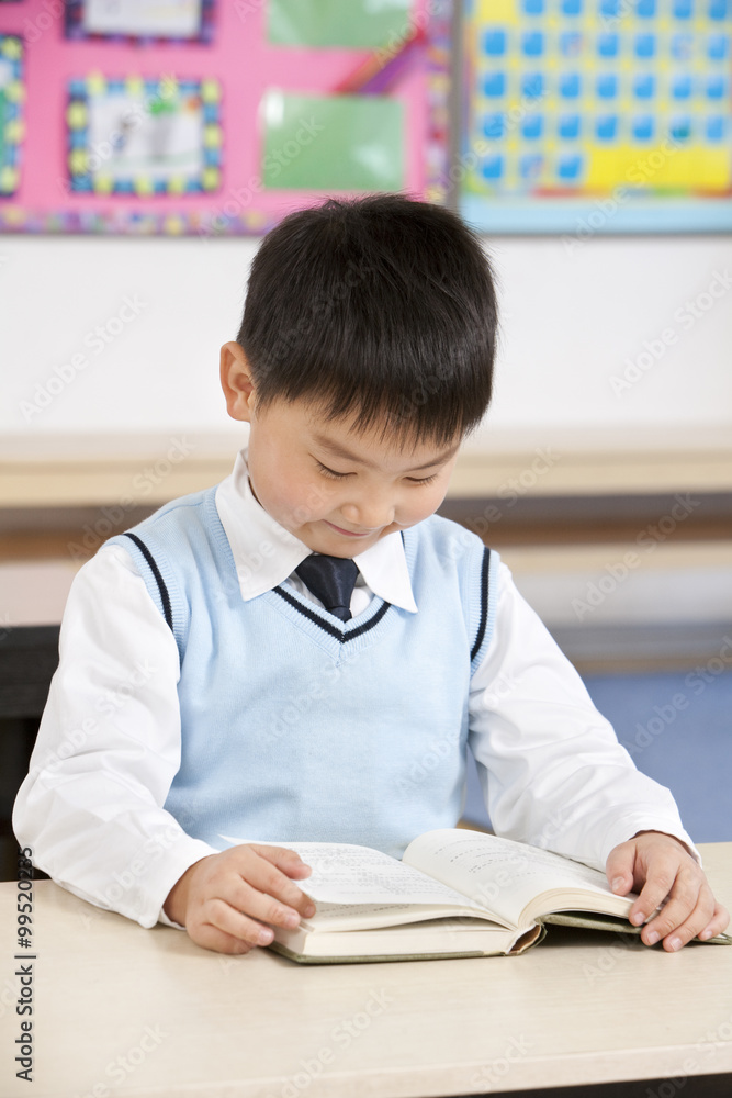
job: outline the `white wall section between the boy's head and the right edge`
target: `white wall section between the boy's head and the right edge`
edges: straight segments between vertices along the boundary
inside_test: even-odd
[[[504,330],[488,426],[732,426],[731,238],[489,246]]]

